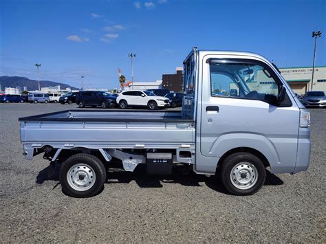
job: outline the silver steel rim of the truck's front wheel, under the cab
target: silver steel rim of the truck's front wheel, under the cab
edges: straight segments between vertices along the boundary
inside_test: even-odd
[[[253,164],[241,162],[232,168],[230,178],[233,186],[246,190],[257,183],[258,171]]]

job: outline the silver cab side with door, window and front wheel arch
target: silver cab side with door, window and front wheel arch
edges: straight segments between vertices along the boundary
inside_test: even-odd
[[[279,164],[275,173],[290,172],[296,163],[299,109],[290,96],[278,102],[283,84],[272,66],[233,57],[203,60],[200,151],[219,158],[233,148],[253,148]]]

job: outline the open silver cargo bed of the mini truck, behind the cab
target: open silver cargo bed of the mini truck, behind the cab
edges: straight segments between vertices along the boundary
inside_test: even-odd
[[[180,148],[195,144],[194,120],[180,111],[67,110],[25,118],[21,141],[40,148]]]

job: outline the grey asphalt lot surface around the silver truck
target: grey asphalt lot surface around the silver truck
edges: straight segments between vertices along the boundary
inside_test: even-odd
[[[268,173],[249,197],[227,195],[214,177],[109,173],[89,199],[63,195],[42,155],[25,160],[19,117],[76,105],[0,104],[0,241],[325,243],[326,109],[312,115],[309,170]]]

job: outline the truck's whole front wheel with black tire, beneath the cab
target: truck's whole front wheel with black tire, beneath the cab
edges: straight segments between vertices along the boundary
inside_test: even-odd
[[[235,172],[237,173],[235,174]],[[233,153],[226,157],[224,162],[222,162],[220,174],[221,182],[226,190],[230,194],[237,196],[253,195],[258,192],[265,183],[266,178],[266,170],[263,162],[251,153]],[[247,185],[244,184],[242,186],[241,181],[238,179],[246,181],[247,178],[245,177],[248,177],[250,181]]]

